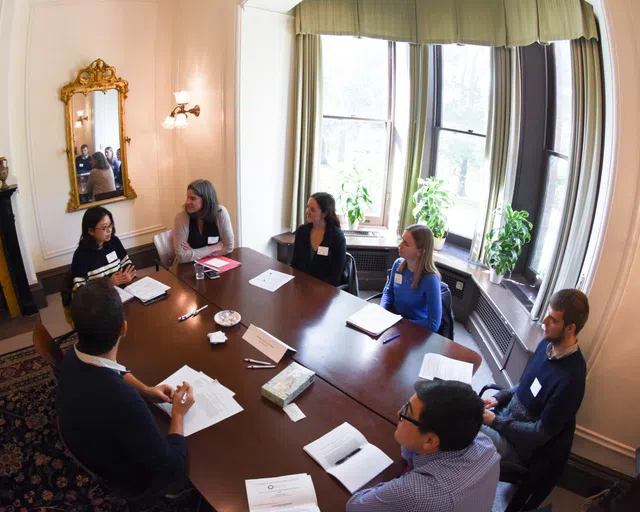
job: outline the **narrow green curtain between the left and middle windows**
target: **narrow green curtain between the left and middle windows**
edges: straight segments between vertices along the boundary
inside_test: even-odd
[[[429,98],[429,55],[430,49],[424,45],[411,45],[409,67],[411,98],[409,101],[409,131],[407,136],[407,164],[405,167],[404,190],[398,233],[413,224],[413,194],[418,189],[418,178],[422,168],[424,138],[427,129],[427,104]]]

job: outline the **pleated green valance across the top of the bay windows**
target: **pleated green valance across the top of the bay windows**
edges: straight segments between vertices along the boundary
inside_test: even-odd
[[[593,7],[585,0],[303,0],[296,30],[509,47],[598,38]]]

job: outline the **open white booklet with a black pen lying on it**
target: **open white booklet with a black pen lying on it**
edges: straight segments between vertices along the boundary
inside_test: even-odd
[[[304,451],[351,494],[393,462],[346,422],[305,446]]]

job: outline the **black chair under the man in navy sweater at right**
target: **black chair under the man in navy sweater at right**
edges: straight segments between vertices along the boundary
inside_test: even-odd
[[[480,391],[501,390],[501,386],[489,384]],[[499,412],[499,409],[497,412]],[[573,443],[575,419],[568,422],[558,435],[535,450],[527,465],[500,462],[500,481],[518,486],[505,512],[535,510],[551,493],[562,476]]]

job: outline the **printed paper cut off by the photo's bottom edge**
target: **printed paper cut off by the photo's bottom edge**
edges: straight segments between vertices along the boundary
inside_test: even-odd
[[[249,512],[320,512],[311,476],[279,476],[245,480]]]

